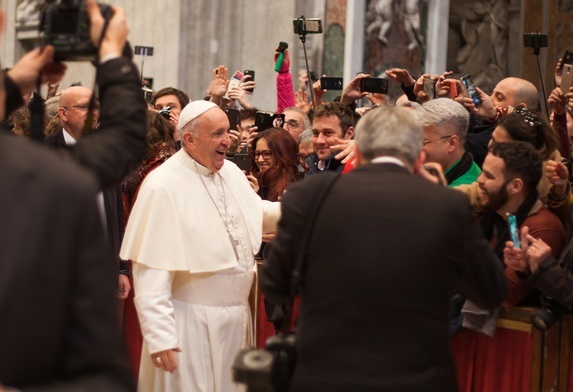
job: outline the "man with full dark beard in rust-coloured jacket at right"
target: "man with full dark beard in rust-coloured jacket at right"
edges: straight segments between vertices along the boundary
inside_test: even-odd
[[[514,214],[519,231],[529,227],[529,233],[550,244],[558,256],[565,241],[565,229],[559,218],[539,200],[537,184],[542,176],[542,160],[526,142],[494,143],[478,178],[480,202],[485,212],[481,218],[484,234],[503,260],[505,243],[510,240],[507,215]],[[531,287],[512,268],[506,268],[508,295],[503,306],[520,303]]]

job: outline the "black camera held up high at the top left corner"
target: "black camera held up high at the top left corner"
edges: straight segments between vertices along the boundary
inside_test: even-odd
[[[104,19],[109,20],[112,8],[98,6]],[[45,43],[54,47],[55,61],[95,61],[97,48],[90,37],[90,26],[85,1],[59,0],[44,8],[40,32]]]

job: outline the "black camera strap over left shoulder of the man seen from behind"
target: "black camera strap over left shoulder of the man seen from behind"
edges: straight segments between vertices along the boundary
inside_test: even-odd
[[[307,219],[305,220],[306,225],[304,227],[303,236],[301,239],[301,244],[298,249],[298,254],[295,262],[295,267],[292,272],[291,278],[291,298],[289,302],[285,306],[285,321],[282,325],[282,332],[288,332],[288,328],[290,327],[291,318],[292,318],[292,310],[295,297],[300,293],[301,283],[302,283],[302,269],[304,267],[304,261],[306,259],[306,251],[308,249],[308,244],[310,243],[310,239],[312,237],[312,232],[314,229],[314,224],[316,222],[316,217],[320,212],[321,207],[324,204],[324,200],[326,200],[326,196],[328,192],[336,182],[340,178],[340,174],[338,173],[323,173],[321,176],[324,176],[324,181],[320,184],[321,186],[318,188],[316,193],[312,196],[310,200],[310,205],[308,209]]]

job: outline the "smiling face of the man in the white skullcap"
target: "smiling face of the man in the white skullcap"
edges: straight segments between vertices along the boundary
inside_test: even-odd
[[[228,129],[229,120],[225,112],[219,108],[207,110],[201,116],[197,134],[193,135],[193,159],[211,171],[219,171],[231,145]]]

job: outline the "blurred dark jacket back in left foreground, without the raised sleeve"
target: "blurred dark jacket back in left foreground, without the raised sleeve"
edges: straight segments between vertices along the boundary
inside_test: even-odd
[[[0,132],[0,382],[134,390],[93,175]],[[106,262],[109,260],[109,262]]]

